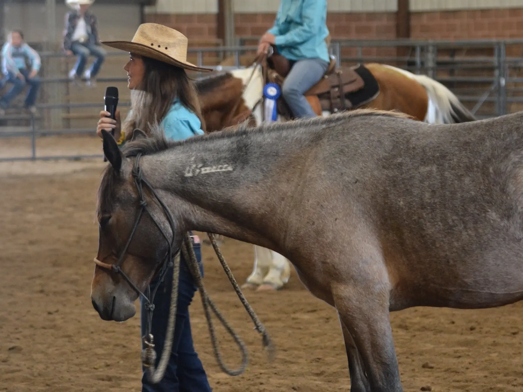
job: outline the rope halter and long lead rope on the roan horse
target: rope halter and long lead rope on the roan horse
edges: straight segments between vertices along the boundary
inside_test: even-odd
[[[165,205],[165,203],[158,197],[158,194],[154,191],[153,187],[143,177],[142,169],[140,167],[140,158],[141,154],[138,154],[136,157],[136,160],[134,162],[134,166],[132,169],[132,177],[135,183],[135,186],[138,190],[138,196],[139,196],[139,203],[140,203],[140,212],[134,221],[134,226],[132,229],[132,232],[129,236],[129,239],[127,240],[126,245],[124,246],[122,252],[120,253],[120,256],[118,258],[118,261],[116,264],[107,264],[105,262],[102,262],[98,260],[97,258],[94,259],[94,262],[97,266],[101,268],[108,269],[112,272],[115,272],[117,274],[122,275],[122,278],[126,280],[127,283],[132,287],[132,289],[138,293],[139,296],[143,297],[145,300],[145,309],[147,312],[147,320],[146,320],[146,327],[145,327],[145,335],[142,337],[143,343],[145,344],[146,348],[142,350],[142,364],[147,369],[147,377],[153,384],[157,384],[160,382],[165,374],[165,370],[167,367],[167,363],[170,357],[170,352],[172,350],[173,346],[173,336],[174,336],[174,329],[175,329],[175,321],[176,321],[176,307],[177,307],[177,299],[178,299],[178,279],[179,279],[179,271],[180,271],[180,250],[183,252],[184,259],[187,263],[187,266],[189,267],[189,270],[191,272],[192,278],[194,279],[196,285],[198,286],[198,290],[200,292],[200,297],[203,305],[203,310],[207,318],[207,324],[209,326],[209,333],[211,335],[211,342],[212,342],[212,348],[214,352],[214,356],[217,359],[217,362],[222,369],[222,371],[226,374],[229,374],[230,376],[236,376],[242,374],[246,367],[247,367],[247,349],[245,347],[245,344],[243,341],[238,337],[237,333],[232,329],[232,327],[229,325],[229,323],[225,320],[225,318],[222,316],[222,314],[219,312],[217,306],[211,301],[209,298],[209,295],[207,294],[207,291],[203,287],[203,281],[201,279],[200,270],[198,267],[198,261],[196,260],[196,255],[194,252],[194,248],[192,247],[192,241],[188,233],[185,233],[183,243],[181,245],[181,249],[176,252],[176,255],[173,260],[173,244],[174,244],[174,233],[175,233],[175,224],[172,214],[170,213],[169,209]],[[169,223],[170,229],[173,233],[172,240],[169,241],[168,236],[165,234],[164,230],[162,229],[161,225],[158,224],[158,222],[155,220],[154,216],[151,214],[149,209],[147,208],[147,201],[144,198],[143,195],[143,185],[145,185],[151,193],[154,195],[155,199],[160,203],[162,206],[163,212],[165,216],[167,217],[167,221]],[[138,227],[138,224],[141,221],[142,215],[144,212],[147,212],[149,216],[151,216],[151,219],[155,223],[156,227],[160,230],[162,233],[162,236],[167,241],[168,250],[167,253],[162,261],[162,267],[160,269],[160,280],[154,287],[154,290],[152,294],[150,293],[150,286],[147,286],[146,294],[142,293],[140,289],[138,289],[138,286],[135,285],[131,279],[127,276],[126,273],[124,273],[121,269],[121,265],[123,263],[123,258],[127,253],[127,250],[129,248],[129,245],[131,244],[131,240],[134,236],[134,233],[136,232],[136,229]],[[274,358],[274,347],[272,346],[272,342],[270,340],[270,337],[264,327],[264,325],[260,322],[256,314],[254,313],[253,308],[249,303],[247,302],[247,299],[243,295],[240,286],[234,279],[234,276],[231,272],[231,269],[229,268],[228,264],[226,263],[225,259],[222,256],[222,253],[220,249],[218,248],[218,244],[216,243],[214,239],[214,235],[211,233],[207,234],[209,236],[209,239],[211,241],[212,247],[214,248],[214,251],[216,252],[216,255],[218,256],[218,259],[220,260],[220,263],[222,264],[222,267],[226,273],[226,275],[229,278],[229,281],[234,287],[234,290],[238,297],[240,298],[240,301],[242,302],[243,306],[245,307],[245,310],[251,317],[251,319],[254,322],[255,329],[261,333],[263,336],[263,346],[269,350],[269,360],[272,360]],[[166,331],[166,337],[164,342],[164,349],[162,352],[162,356],[160,359],[160,362],[158,363],[158,366],[155,368],[156,363],[156,351],[154,350],[154,337],[151,334],[151,325],[152,325],[152,317],[153,317],[153,311],[154,311],[154,296],[156,295],[156,291],[158,287],[160,286],[160,283],[163,282],[165,279],[165,274],[167,271],[167,266],[169,264],[169,261],[173,260],[173,290],[172,290],[172,296],[170,301],[170,307],[169,307],[169,318],[167,322],[167,331]],[[211,313],[209,308],[212,310],[212,312],[218,317],[222,325],[225,327],[225,329],[229,332],[229,334],[234,339],[235,343],[240,348],[240,351],[242,353],[242,364],[240,368],[237,370],[230,370],[228,367],[226,367],[225,363],[223,362],[220,350],[218,347],[218,342],[215,336],[214,326],[212,324],[211,320]]]

